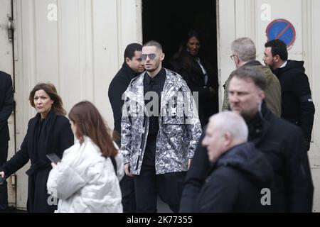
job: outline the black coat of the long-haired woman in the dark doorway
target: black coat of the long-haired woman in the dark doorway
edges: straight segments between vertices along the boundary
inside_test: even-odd
[[[191,56],[186,57],[189,57],[191,63],[189,67],[186,65],[186,60],[177,59],[171,61],[171,68],[183,77],[191,92],[198,92],[199,119],[201,126],[205,126],[208,123],[208,118],[218,113],[218,77],[211,70],[210,64],[201,59],[201,65],[203,65],[208,75],[208,82],[206,84],[205,75],[198,62]],[[215,92],[210,92],[209,87],[215,89]]]

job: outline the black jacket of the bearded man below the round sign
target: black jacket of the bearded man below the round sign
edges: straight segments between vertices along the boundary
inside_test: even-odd
[[[281,117],[300,126],[309,145],[315,109],[309,80],[304,71],[304,62],[288,60],[286,67],[275,70],[274,74],[282,90]]]

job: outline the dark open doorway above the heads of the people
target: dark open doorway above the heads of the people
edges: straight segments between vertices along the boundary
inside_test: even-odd
[[[164,67],[178,50],[183,35],[195,29],[203,38],[213,70],[217,72],[217,26],[215,0],[143,0],[143,42],[161,43],[166,58]]]

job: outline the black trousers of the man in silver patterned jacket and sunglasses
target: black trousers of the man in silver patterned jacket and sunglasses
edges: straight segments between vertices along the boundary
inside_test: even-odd
[[[169,205],[171,211],[177,213],[186,172],[173,172],[156,175],[154,167],[142,165],[140,175],[134,176],[138,213],[155,213],[156,200],[160,199]]]

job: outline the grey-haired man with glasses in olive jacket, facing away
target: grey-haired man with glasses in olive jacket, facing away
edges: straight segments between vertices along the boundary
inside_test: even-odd
[[[255,43],[250,38],[238,38],[231,45],[233,55],[231,59],[235,62],[235,67],[252,67],[254,70],[262,72],[267,79],[267,87],[265,89],[265,102],[267,108],[272,111],[275,116],[281,116],[281,87],[279,79],[271,72],[268,67],[263,66],[259,61],[255,60],[256,49]],[[223,99],[223,110],[229,109],[230,102],[228,99],[228,87],[230,77],[225,82],[225,96]]]

